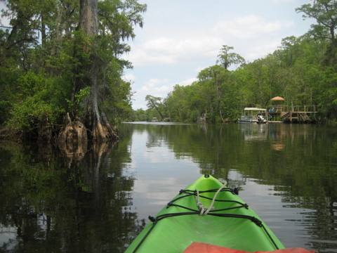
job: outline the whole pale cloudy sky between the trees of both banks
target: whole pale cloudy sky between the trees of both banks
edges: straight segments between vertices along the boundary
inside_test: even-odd
[[[251,62],[272,53],[288,36],[300,36],[312,20],[295,9],[309,0],[140,0],[147,4],[143,28],[129,41],[124,58],[133,63],[133,109],[146,108],[145,96],[166,97],[176,84],[189,85],[216,64],[223,45]]]

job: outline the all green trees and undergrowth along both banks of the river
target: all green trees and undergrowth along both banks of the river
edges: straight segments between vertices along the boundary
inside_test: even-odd
[[[296,8],[316,22],[286,37],[273,53],[248,63],[232,46],[197,81],[177,84],[166,98],[148,95],[132,110],[128,39],[143,27],[137,0],[6,1],[0,29],[0,139],[79,148],[118,139],[122,121],[233,122],[244,107],[316,105],[319,122],[337,124],[337,4]]]

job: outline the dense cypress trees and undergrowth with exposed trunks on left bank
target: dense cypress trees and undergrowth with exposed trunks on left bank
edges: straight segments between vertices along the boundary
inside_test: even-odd
[[[128,117],[138,0],[8,0],[0,27],[0,139],[81,149],[118,139]]]

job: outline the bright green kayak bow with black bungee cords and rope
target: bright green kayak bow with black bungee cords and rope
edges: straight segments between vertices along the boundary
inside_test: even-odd
[[[149,217],[130,252],[182,253],[192,242],[246,250],[284,249],[260,217],[213,176],[204,175]]]

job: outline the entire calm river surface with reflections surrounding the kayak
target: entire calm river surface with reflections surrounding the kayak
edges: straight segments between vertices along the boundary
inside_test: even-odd
[[[337,129],[121,124],[85,155],[0,143],[0,252],[124,252],[201,174],[239,187],[286,247],[337,252]]]

